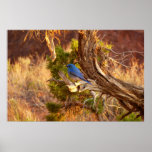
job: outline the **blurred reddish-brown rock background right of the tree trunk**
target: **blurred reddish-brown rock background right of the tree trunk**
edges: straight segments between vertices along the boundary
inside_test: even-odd
[[[143,30],[106,30],[101,31],[104,41],[113,45],[116,52],[137,51],[144,53],[144,31]],[[139,63],[144,62],[143,54],[134,53]]]

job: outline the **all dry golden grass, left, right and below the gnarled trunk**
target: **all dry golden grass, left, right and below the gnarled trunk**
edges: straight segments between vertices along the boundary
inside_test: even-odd
[[[8,61],[8,120],[9,121],[46,121],[48,114],[45,104],[57,102],[50,93],[48,83],[50,72],[46,61],[40,58],[37,63],[31,58],[19,58],[11,65]],[[121,80],[144,86],[144,65],[134,59],[131,69],[124,70],[114,65],[112,74]],[[65,111],[64,121],[97,121],[95,114],[71,107]]]

